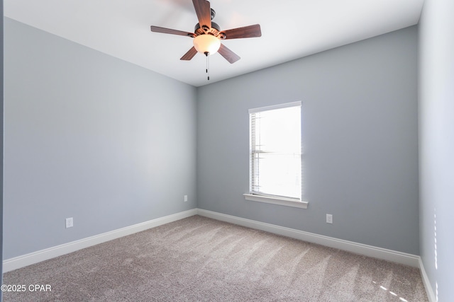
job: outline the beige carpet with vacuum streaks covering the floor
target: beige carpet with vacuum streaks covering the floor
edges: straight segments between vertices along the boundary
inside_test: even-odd
[[[201,216],[4,274],[4,301],[428,301],[418,269]]]

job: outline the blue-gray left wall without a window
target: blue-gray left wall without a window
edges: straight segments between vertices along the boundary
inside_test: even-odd
[[[196,88],[8,18],[4,38],[4,259],[196,207]]]

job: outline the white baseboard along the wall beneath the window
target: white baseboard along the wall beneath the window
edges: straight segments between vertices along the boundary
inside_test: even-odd
[[[270,223],[263,223],[260,221],[253,221],[250,219],[243,219],[236,216],[220,214],[214,211],[207,211],[204,209],[197,209],[197,214],[206,216],[212,219],[235,223],[240,226],[248,228],[255,228],[261,231],[267,231],[290,238],[304,240],[310,243],[317,243],[325,245],[330,248],[338,248],[339,250],[346,250],[354,252],[355,254],[374,257],[382,260],[400,263],[402,265],[409,265],[411,267],[419,267],[420,257],[417,255],[407,254],[405,252],[397,252],[394,250],[387,250],[385,248],[377,248],[372,245],[365,245],[362,243],[354,243],[348,240],[332,238],[328,236],[317,235],[304,231],[295,230],[294,228],[285,228],[283,226],[276,226]]]

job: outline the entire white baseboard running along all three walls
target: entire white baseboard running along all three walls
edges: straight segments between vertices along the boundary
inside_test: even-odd
[[[84,238],[81,240],[76,240],[70,243],[65,243],[62,245],[57,245],[52,248],[47,248],[45,250],[38,250],[37,252],[31,252],[30,254],[21,255],[18,257],[13,257],[3,262],[3,272],[10,272],[14,269],[19,269],[21,267],[26,267],[28,265],[33,265],[35,263],[51,259],[53,257],[58,257],[61,255],[68,254],[70,252],[75,252],[81,250],[82,248],[88,248],[92,245],[99,243],[104,243],[109,240],[120,238],[123,236],[128,236],[133,233],[140,231],[145,231],[148,228],[154,228],[156,226],[161,226],[165,223],[170,223],[177,221],[179,219],[184,219],[189,216],[200,215],[209,217],[211,219],[216,219],[220,221],[226,221],[229,223],[235,223],[240,226],[245,226],[248,228],[255,228],[261,231],[267,231],[270,233],[279,234],[282,236],[287,236],[290,238],[295,238],[299,240],[304,240],[311,243],[317,243],[320,245],[325,245],[331,248],[338,248],[340,250],[346,250],[348,252],[354,252],[359,255],[365,255],[368,257],[375,257],[382,260],[397,262],[402,265],[409,265],[411,267],[419,267],[421,270],[421,278],[423,284],[426,288],[426,294],[430,302],[436,302],[436,296],[433,293],[433,289],[428,276],[423,267],[421,257],[411,254],[406,254],[404,252],[397,252],[394,250],[387,250],[384,248],[377,248],[372,245],[365,245],[362,243],[354,243],[348,240],[342,240],[337,238],[331,238],[328,236],[321,236],[314,233],[304,232],[295,230],[293,228],[285,228],[283,226],[276,226],[270,223],[263,223],[260,221],[253,221],[250,219],[243,219],[236,216],[226,215],[217,213],[214,211],[207,211],[204,209],[191,209],[188,211],[182,211],[177,214],[172,214],[169,216],[164,216],[158,219],[153,219],[150,221],[145,221],[143,223],[138,223],[133,226],[127,226],[126,228],[119,228],[118,230],[110,231],[107,233],[102,233],[96,236],[89,238]]]

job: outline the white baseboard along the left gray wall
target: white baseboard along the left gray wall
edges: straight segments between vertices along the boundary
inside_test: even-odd
[[[38,262],[41,262],[44,260],[48,260],[53,257],[58,257],[61,255],[68,254],[70,252],[75,252],[76,250],[81,250],[82,248],[88,248],[92,245],[104,243],[106,241],[120,238],[123,236],[128,236],[133,233],[140,232],[140,231],[145,231],[148,228],[155,228],[156,226],[161,226],[162,224],[177,221],[179,219],[184,219],[189,216],[194,216],[196,214],[197,214],[197,209],[182,211],[177,214],[172,214],[169,216],[160,217],[158,219],[145,221],[143,223],[138,223],[133,226],[126,226],[125,228],[118,228],[118,230],[110,231],[107,233],[102,233],[102,234],[84,238],[81,240],[72,241],[70,243],[65,243],[62,245],[57,245],[52,248],[46,248],[45,250],[38,250],[37,252],[31,252],[26,255],[13,257],[13,258],[4,260],[3,272],[10,272],[14,269],[19,269],[21,267],[33,265],[35,263],[38,263]]]

